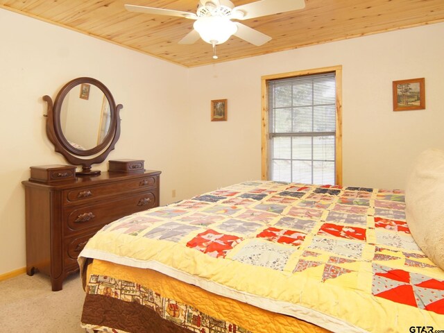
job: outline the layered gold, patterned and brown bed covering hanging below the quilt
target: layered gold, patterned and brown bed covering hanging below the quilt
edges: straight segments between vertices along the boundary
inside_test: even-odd
[[[94,260],[84,278],[87,295],[81,321],[89,332],[329,332],[149,269]]]

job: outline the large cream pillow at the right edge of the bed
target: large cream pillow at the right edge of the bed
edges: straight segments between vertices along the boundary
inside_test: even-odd
[[[421,153],[405,190],[407,224],[421,250],[444,269],[444,151]]]

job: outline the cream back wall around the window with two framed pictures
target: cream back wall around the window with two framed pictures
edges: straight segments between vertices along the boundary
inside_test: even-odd
[[[190,69],[193,194],[261,177],[261,76],[343,66],[343,184],[404,188],[416,155],[444,148],[444,24]],[[222,47],[222,46],[221,46]],[[393,112],[392,81],[425,78],[426,110]],[[228,99],[228,121],[210,100]]]

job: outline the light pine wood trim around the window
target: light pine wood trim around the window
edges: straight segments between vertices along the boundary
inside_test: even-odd
[[[317,69],[307,69],[305,71],[291,71],[283,74],[273,74],[262,76],[262,180],[268,180],[268,80],[277,78],[290,78],[293,76],[303,76],[310,74],[323,74],[335,72],[336,78],[336,185],[342,185],[342,66],[322,67]]]

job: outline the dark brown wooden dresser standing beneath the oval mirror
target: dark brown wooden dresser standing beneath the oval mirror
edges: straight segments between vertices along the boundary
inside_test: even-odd
[[[69,170],[52,171],[51,167],[34,167],[34,171],[47,172],[48,181],[30,178],[23,182],[26,273],[49,275],[52,290],[58,291],[67,275],[78,271],[78,254],[103,225],[159,205],[160,171],[103,172],[76,178]],[[32,172],[33,167],[31,176]],[[51,177],[57,180],[51,182]]]

